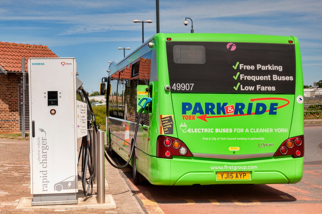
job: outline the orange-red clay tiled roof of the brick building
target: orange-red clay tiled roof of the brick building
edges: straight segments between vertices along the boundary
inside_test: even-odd
[[[21,72],[21,58],[28,71],[29,57],[58,57],[47,46],[0,42],[0,66],[6,71]]]

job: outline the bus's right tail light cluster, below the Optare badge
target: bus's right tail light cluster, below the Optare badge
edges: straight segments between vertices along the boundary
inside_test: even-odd
[[[304,156],[304,136],[292,137],[284,141],[274,156],[292,155],[293,158]]]

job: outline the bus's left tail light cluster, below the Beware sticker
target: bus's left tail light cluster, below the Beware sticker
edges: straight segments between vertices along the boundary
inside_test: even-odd
[[[156,141],[156,157],[158,158],[172,158],[174,155],[192,157],[185,143],[177,138],[160,135]]]

